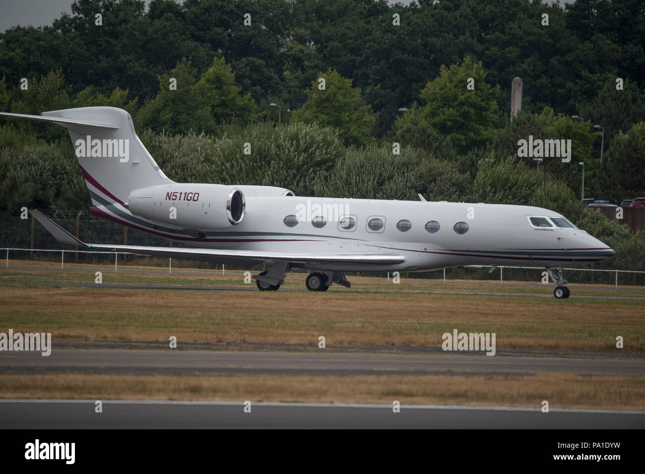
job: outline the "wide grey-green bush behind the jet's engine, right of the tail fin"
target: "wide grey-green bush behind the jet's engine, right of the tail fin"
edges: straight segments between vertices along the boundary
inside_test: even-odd
[[[281,186],[298,195],[312,195],[312,183],[344,154],[335,130],[303,123],[228,126],[217,141],[204,134],[152,132],[142,133],[141,140],[175,181]],[[250,155],[244,155],[245,143]]]

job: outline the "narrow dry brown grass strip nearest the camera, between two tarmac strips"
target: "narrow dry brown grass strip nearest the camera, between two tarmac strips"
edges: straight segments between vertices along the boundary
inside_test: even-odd
[[[645,410],[645,376],[3,375],[7,399],[201,400]]]

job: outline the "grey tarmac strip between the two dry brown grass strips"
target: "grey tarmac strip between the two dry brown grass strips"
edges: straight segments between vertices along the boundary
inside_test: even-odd
[[[642,358],[486,356],[483,353],[369,353],[204,350],[58,349],[3,351],[0,373],[128,375],[643,375]]]

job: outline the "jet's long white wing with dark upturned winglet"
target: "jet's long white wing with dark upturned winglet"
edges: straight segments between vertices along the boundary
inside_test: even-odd
[[[71,233],[64,230],[39,211],[31,211],[35,219],[43,224],[59,242],[69,245],[84,246],[94,250],[108,252],[130,252],[139,255],[153,255],[174,259],[198,260],[207,262],[223,262],[239,266],[253,266],[266,261],[288,261],[296,264],[372,264],[391,265],[405,261],[405,257],[396,252],[353,252],[353,253],[287,253],[268,252],[264,250],[221,250],[212,248],[181,248],[181,247],[148,247],[140,245],[110,245],[86,244]]]

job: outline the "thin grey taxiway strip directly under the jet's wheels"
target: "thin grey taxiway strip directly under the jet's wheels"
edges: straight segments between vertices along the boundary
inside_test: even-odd
[[[64,281],[17,281],[17,280],[4,280],[1,284],[30,284],[30,285],[47,285],[47,286],[74,286],[79,288],[94,288],[94,289],[121,289],[121,290],[183,290],[183,291],[259,291],[255,285],[251,286],[200,286],[200,285],[165,285],[165,284],[124,284],[124,283],[81,283],[81,282],[64,282]],[[281,288],[278,292],[295,291],[307,292],[305,288]],[[440,296],[482,296],[482,297],[495,297],[495,298],[521,298],[521,299],[553,299],[552,291],[545,291],[544,295],[511,295],[499,293],[457,293],[454,291],[380,291],[380,290],[350,290],[348,288],[340,288],[333,286],[329,290],[330,293],[362,293],[362,294],[406,294],[406,295],[440,295]],[[576,296],[572,294],[571,300],[587,300],[587,301],[641,301],[645,303],[645,298],[608,298],[601,296]]]

